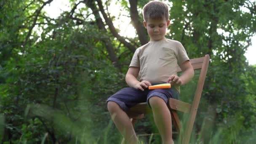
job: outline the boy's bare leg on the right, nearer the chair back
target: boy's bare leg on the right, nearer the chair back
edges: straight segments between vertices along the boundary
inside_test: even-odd
[[[171,113],[165,101],[158,96],[153,96],[149,99],[149,104],[163,144],[173,144]]]

